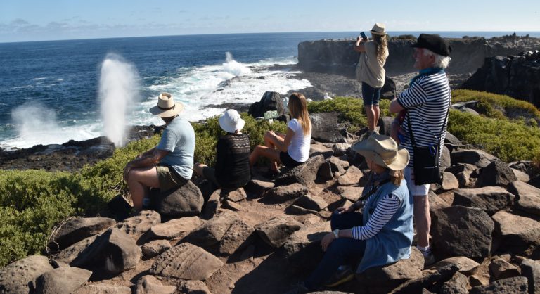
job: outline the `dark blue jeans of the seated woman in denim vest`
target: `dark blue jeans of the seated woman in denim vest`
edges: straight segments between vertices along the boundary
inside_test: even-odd
[[[333,213],[330,219],[332,230],[351,229],[353,226],[361,225],[362,215],[359,212]],[[332,241],[326,249],[323,260],[319,262],[315,271],[304,281],[304,286],[309,290],[315,290],[321,283],[326,283],[340,265],[349,264],[353,269],[356,269],[356,265],[364,255],[364,250],[366,250],[366,240],[339,238]]]

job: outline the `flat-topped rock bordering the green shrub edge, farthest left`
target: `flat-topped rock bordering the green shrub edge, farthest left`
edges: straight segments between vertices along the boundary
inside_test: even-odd
[[[114,219],[108,217],[82,217],[71,219],[66,222],[53,237],[53,243],[47,247],[58,250],[81,241],[84,238],[94,236],[116,224]]]

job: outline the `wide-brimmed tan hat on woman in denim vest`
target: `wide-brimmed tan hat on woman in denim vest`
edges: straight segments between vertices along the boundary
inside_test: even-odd
[[[389,136],[373,134],[354,143],[351,148],[390,170],[403,170],[409,164],[409,151],[397,146],[396,141]]]

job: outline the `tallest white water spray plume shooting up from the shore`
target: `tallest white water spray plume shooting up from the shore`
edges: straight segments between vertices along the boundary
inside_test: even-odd
[[[117,147],[126,143],[129,115],[139,101],[139,80],[135,66],[122,56],[105,56],[99,79],[101,117],[105,136]]]

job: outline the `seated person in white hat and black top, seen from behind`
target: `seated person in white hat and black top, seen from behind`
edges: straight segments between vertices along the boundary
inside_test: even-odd
[[[233,109],[226,110],[219,117],[219,126],[227,134],[217,141],[216,166],[212,169],[197,162],[193,165],[196,174],[227,190],[248,184],[251,179],[250,138],[240,132],[244,124],[238,111]]]

